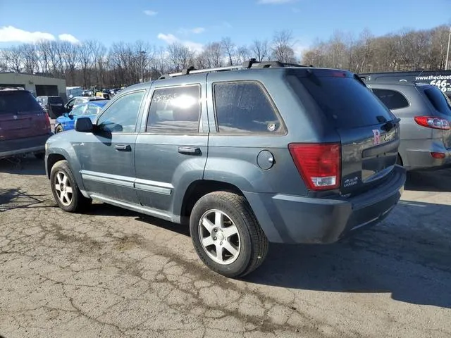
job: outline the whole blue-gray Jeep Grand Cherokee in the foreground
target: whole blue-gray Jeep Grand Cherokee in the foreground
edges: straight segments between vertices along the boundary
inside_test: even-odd
[[[202,261],[250,273],[268,242],[332,243],[400,199],[399,121],[343,70],[250,61],[128,87],[47,142],[65,211],[97,199],[190,225]]]

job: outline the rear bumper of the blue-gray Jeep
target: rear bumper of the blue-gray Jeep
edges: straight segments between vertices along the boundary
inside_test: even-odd
[[[396,165],[389,175],[383,184],[351,198],[245,196],[270,242],[333,243],[357,228],[380,222],[393,209],[404,189],[406,173]]]

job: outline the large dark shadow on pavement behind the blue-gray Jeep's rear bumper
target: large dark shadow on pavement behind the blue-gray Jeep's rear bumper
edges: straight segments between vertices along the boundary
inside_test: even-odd
[[[451,206],[401,202],[381,225],[332,245],[272,244],[248,282],[326,292],[390,293],[451,308]]]

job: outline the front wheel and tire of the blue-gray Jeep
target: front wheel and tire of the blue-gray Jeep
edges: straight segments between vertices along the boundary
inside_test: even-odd
[[[51,168],[50,182],[54,199],[63,211],[76,213],[84,210],[92,203],[92,199],[87,199],[78,189],[78,184],[69,168],[68,161],[63,160],[55,163]]]

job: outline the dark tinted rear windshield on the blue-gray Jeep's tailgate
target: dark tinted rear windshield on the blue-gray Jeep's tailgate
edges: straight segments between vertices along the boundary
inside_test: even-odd
[[[288,82],[304,101],[300,82],[335,127],[363,127],[395,119],[364,84],[352,77],[323,77],[313,73],[307,77],[289,75]]]

